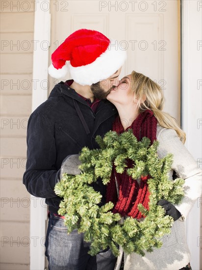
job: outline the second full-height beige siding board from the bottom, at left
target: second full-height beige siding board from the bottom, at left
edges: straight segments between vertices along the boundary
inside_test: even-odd
[[[12,239],[19,239],[19,242],[23,243],[24,245],[30,243],[29,223],[27,222],[22,224],[20,222],[1,222],[0,235],[1,237],[6,237],[6,239],[9,239],[11,242]]]

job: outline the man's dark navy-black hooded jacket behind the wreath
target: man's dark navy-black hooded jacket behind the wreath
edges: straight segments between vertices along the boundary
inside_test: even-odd
[[[101,101],[96,114],[76,91],[64,82],[52,89],[47,101],[31,115],[27,126],[27,162],[23,183],[29,193],[46,198],[49,210],[57,213],[61,198],[54,193],[56,174],[62,161],[78,154],[82,147],[98,148],[96,135],[112,129],[117,114],[108,101]],[[94,189],[102,194],[101,180]]]

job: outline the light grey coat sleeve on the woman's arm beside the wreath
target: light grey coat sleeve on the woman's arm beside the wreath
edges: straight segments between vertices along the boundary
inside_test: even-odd
[[[202,194],[202,171],[197,167],[192,155],[180,141],[175,130],[164,129],[158,126],[157,140],[159,141],[158,155],[165,157],[168,153],[173,154],[172,169],[176,171],[177,177],[185,180],[185,196],[177,210],[186,218],[197,198]]]

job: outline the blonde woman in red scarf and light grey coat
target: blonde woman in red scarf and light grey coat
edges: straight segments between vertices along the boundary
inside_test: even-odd
[[[140,73],[133,71],[131,75],[124,77],[120,84],[111,90],[107,99],[116,106],[119,112],[113,130],[120,134],[130,128],[138,140],[147,136],[152,143],[157,139],[160,158],[168,153],[173,154],[169,178],[172,180],[175,171],[177,177],[185,179],[185,196],[180,205],[174,206],[166,200],[158,203],[164,207],[166,214],[175,220],[171,234],[162,238],[161,248],[145,252],[143,257],[136,253],[124,254],[124,270],[191,269],[184,220],[196,199],[201,196],[202,188],[201,170],[197,168],[195,160],[183,145],[185,133],[177,126],[173,117],[162,111],[164,97],[160,87]],[[120,175],[115,172],[107,186],[107,201],[115,204],[114,213],[142,218],[137,209],[137,200],[142,197],[141,192],[144,188],[147,188],[145,185],[147,184],[144,179],[134,181],[125,173]],[[145,192],[145,207],[148,205],[148,200],[148,193]],[[120,266],[117,265],[116,270],[118,269]]]

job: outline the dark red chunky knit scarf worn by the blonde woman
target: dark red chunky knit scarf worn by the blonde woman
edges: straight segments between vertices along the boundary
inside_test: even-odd
[[[144,136],[151,140],[151,144],[156,140],[156,126],[157,120],[151,110],[146,110],[139,114],[133,121],[132,125],[127,129],[132,129],[133,134],[140,141]],[[126,130],[127,130],[126,129]],[[113,124],[113,131],[118,134],[124,132],[121,120],[119,117],[115,119]],[[127,160],[127,168],[133,166],[132,160]],[[119,197],[117,195],[115,177],[119,187]],[[120,174],[115,170],[113,165],[110,182],[107,185],[106,202],[113,202],[113,213],[119,213],[121,216],[132,216],[133,218],[143,217],[137,206],[141,203],[147,210],[149,210],[149,190],[147,184],[147,177],[141,177],[140,185],[133,180],[131,176],[126,174],[126,170]]]

